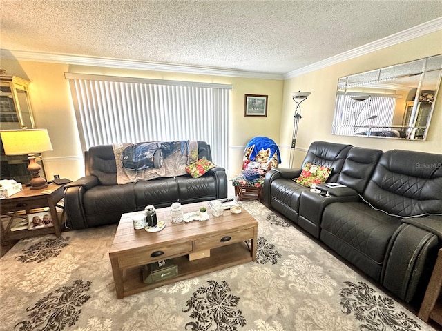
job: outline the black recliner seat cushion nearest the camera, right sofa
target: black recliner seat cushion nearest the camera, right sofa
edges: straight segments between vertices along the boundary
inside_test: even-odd
[[[321,240],[379,280],[388,243],[400,225],[400,218],[365,203],[332,203],[324,210]]]

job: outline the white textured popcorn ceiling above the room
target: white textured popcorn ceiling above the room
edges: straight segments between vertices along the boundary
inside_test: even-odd
[[[439,0],[0,0],[0,11],[6,50],[274,74],[442,17]]]

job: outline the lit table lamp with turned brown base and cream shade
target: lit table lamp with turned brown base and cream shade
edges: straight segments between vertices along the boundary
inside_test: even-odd
[[[28,171],[32,174],[31,190],[47,188],[46,179],[40,177],[41,166],[35,162],[35,153],[52,150],[48,130],[46,129],[17,129],[1,130],[1,141],[6,155],[28,154]]]

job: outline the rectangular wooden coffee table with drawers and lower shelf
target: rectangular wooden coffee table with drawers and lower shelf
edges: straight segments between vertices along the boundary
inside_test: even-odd
[[[222,217],[213,217],[207,202],[183,205],[183,211],[195,212],[203,206],[209,220],[189,223],[171,223],[170,208],[158,209],[157,219],[166,222],[159,232],[133,228],[133,215],[144,212],[122,214],[109,252],[118,299],[256,260],[258,221],[244,208],[240,214],[224,210]],[[144,283],[142,266],[165,259],[173,259],[178,275]]]

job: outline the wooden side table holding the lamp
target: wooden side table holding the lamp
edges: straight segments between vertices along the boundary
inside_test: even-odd
[[[5,245],[9,240],[23,239],[40,236],[43,234],[55,233],[57,237],[61,234],[61,225],[64,217],[57,216],[57,203],[64,197],[64,185],[52,183],[43,190],[31,190],[23,188],[20,192],[10,197],[0,200],[0,234],[1,245]],[[49,207],[52,224],[54,226],[39,228],[35,230],[11,231],[12,222],[20,217],[19,212],[30,214],[31,210]],[[3,218],[6,221],[3,221]],[[21,217],[23,218],[23,217]]]

